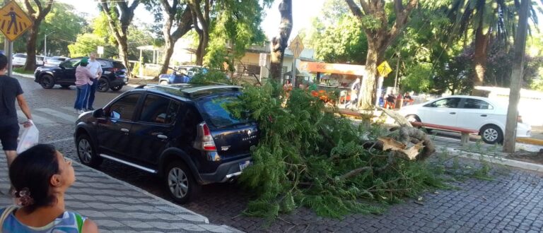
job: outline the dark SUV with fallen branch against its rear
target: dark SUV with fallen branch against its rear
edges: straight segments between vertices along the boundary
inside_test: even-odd
[[[257,124],[233,117],[235,85],[143,85],[76,121],[79,160],[95,167],[103,158],[157,174],[178,203],[202,184],[233,181],[251,164]]]

